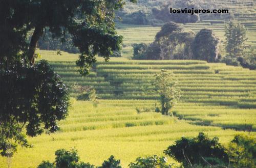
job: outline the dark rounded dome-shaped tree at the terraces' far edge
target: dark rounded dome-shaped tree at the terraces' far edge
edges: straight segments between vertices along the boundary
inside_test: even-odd
[[[195,37],[192,44],[195,60],[215,62],[219,55],[219,39],[210,29],[202,29]]]

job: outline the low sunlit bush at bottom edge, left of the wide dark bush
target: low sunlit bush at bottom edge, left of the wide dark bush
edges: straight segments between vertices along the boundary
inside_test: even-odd
[[[171,165],[167,164],[167,158],[159,157],[157,155],[150,157],[138,157],[136,162],[129,164],[130,168],[169,168]]]

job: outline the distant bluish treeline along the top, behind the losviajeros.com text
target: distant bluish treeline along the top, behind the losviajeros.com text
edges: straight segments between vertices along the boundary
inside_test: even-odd
[[[209,3],[210,4],[210,3]],[[233,18],[232,11],[228,14],[213,14],[201,13],[191,15],[189,13],[172,13],[170,14],[170,7],[173,9],[220,9],[220,6],[206,5],[200,1],[148,1],[140,0],[135,4],[127,4],[125,8],[118,11],[117,21],[124,24],[145,24],[159,26],[165,22],[174,21],[176,23],[195,23],[200,20],[227,20]],[[138,8],[138,7],[140,8]],[[135,8],[135,9],[134,9]],[[226,8],[226,7],[225,7]],[[224,7],[223,7],[224,9]],[[118,19],[119,18],[119,19]],[[121,18],[121,19],[120,19]]]

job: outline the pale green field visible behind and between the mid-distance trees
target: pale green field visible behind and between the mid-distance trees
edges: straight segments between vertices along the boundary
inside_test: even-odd
[[[245,42],[247,46],[252,46],[256,48],[256,22],[253,21],[244,21],[241,22],[245,25],[246,37],[248,40]],[[225,55],[225,23],[211,23],[209,21],[202,23],[187,23],[180,24],[184,27],[185,31],[194,31],[198,33],[201,29],[211,29],[214,31],[215,35],[220,39],[220,52],[224,56]],[[160,26],[146,26],[146,25],[127,25],[127,24],[117,24],[117,32],[118,34],[124,37],[123,39],[123,57],[131,58],[133,55],[133,47],[134,43],[152,43],[155,39],[157,32],[160,31]],[[145,31],[146,30],[146,31]]]

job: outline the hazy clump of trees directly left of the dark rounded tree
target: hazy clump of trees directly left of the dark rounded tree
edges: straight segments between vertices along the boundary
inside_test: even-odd
[[[184,32],[175,22],[161,27],[155,41],[150,45],[134,44],[134,59],[137,60],[188,60],[192,59],[191,45],[194,32]]]

